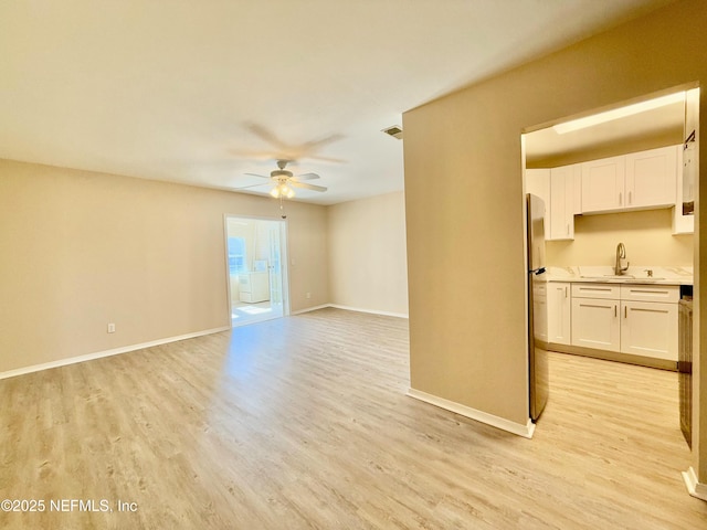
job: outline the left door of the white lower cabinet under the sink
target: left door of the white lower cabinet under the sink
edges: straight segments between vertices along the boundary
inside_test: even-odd
[[[619,351],[619,300],[572,298],[572,346]]]

